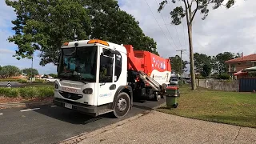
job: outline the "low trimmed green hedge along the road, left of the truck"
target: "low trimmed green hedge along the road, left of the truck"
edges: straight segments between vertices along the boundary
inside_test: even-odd
[[[53,86],[43,86],[43,87],[19,87],[19,88],[7,88],[0,87],[0,96],[17,98],[22,97],[26,99],[30,98],[46,98],[54,96]]]

